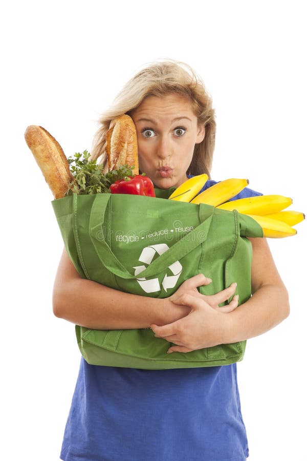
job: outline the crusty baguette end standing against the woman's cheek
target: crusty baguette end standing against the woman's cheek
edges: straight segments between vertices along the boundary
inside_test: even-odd
[[[129,115],[120,115],[111,121],[105,136],[105,152],[109,170],[127,164],[134,166],[134,175],[139,174],[137,132]]]

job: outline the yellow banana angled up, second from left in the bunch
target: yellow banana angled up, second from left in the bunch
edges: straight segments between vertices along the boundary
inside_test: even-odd
[[[196,196],[191,203],[207,203],[217,206],[237,195],[248,185],[248,179],[225,179]]]

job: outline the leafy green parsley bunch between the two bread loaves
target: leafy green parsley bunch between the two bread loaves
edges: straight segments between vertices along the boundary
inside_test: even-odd
[[[83,151],[77,152],[72,157],[68,157],[68,164],[74,181],[70,184],[67,195],[72,194],[98,194],[108,193],[109,186],[118,179],[132,176],[131,167],[128,165],[120,166],[118,170],[102,173],[104,166],[96,163],[96,160],[89,160],[90,153]]]

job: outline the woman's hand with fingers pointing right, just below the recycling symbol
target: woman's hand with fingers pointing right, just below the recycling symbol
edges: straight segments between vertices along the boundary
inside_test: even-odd
[[[208,277],[205,277],[203,274],[198,274],[183,282],[172,296],[165,298],[165,317],[171,319],[167,323],[175,322],[176,320],[185,317],[190,312],[190,308],[188,306],[174,304],[172,302],[172,300],[175,300],[184,294],[188,294],[206,301],[213,309],[216,309],[219,312],[232,312],[238,306],[238,296],[234,295],[236,283],[232,283],[229,287],[222,291],[218,291],[215,295],[202,295],[197,288],[199,286],[209,285],[211,282],[212,280]],[[232,296],[233,298],[229,304],[220,306],[220,304],[224,303]]]

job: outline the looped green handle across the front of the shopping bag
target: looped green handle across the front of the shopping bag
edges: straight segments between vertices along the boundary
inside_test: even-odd
[[[90,217],[90,236],[95,247],[96,253],[103,264],[111,273],[123,279],[139,279],[142,277],[150,277],[166,270],[175,261],[183,258],[190,253],[194,248],[199,246],[208,236],[210,230],[213,210],[210,207],[210,215],[208,216],[208,205],[200,205],[200,216],[206,216],[201,224],[196,226],[193,231],[186,234],[181,240],[174,243],[165,253],[161,254],[153,261],[146,269],[139,274],[131,274],[117,259],[112,252],[112,249],[105,241],[103,232],[103,219],[111,199],[111,194],[97,194],[93,203]],[[77,218],[77,201],[74,202],[74,216]],[[203,207],[207,208],[204,212]],[[102,219],[102,220],[101,220]],[[81,246],[77,243],[78,250],[81,252]],[[148,245],[150,246],[150,245]],[[80,258],[83,260],[83,258]]]

